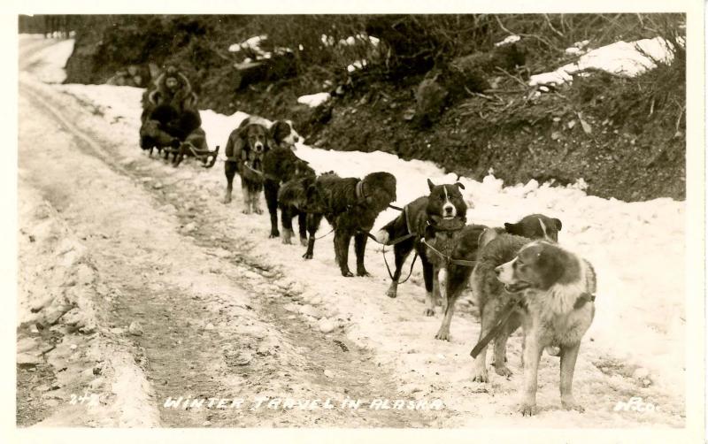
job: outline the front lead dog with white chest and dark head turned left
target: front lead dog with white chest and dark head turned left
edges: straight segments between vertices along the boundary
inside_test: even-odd
[[[510,301],[512,316],[495,338],[496,372],[511,375],[504,364],[506,341],[519,325],[524,333],[524,386],[519,411],[535,413],[538,364],[543,348],[560,348],[560,398],[566,410],[583,411],[573,398],[573,372],[582,336],[595,316],[595,270],[588,261],[549,241],[501,234],[480,252],[473,272],[480,301],[483,338]],[[474,360],[473,380],[487,381],[486,347]]]

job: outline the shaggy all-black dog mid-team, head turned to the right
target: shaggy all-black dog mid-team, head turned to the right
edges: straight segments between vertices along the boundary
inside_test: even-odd
[[[357,275],[368,276],[364,253],[368,232],[381,211],[396,200],[396,178],[389,172],[372,172],[363,180],[344,178],[334,173],[320,175],[307,189],[307,208],[322,214],[335,230],[335,256],[342,276],[350,277],[349,246],[354,237]],[[319,225],[319,220],[313,220]],[[309,228],[308,228],[309,229]],[[313,227],[317,231],[316,226]],[[305,258],[312,256],[314,236],[308,242]]]

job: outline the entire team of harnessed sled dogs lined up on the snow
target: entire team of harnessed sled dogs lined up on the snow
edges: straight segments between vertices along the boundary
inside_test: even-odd
[[[450,340],[455,302],[471,284],[479,307],[480,338],[472,351],[473,380],[489,381],[486,351],[494,342],[492,364],[508,377],[506,342],[519,326],[523,331],[523,389],[519,411],[535,413],[537,371],[543,350],[560,358],[560,397],[563,408],[582,411],[573,398],[573,371],[583,334],[595,314],[596,276],[592,265],[558,244],[558,218],[531,214],[516,223],[489,227],[466,222],[467,203],[461,183],[435,184],[429,194],[405,205],[401,213],[370,233],[381,211],[396,201],[396,178],[373,172],[363,179],[342,178],[335,172],[319,176],[293,152],[298,135],[289,121],[250,117],[228,137],[225,163],[231,202],[235,173],[241,177],[243,213],[261,214],[264,191],[270,214],[270,237],[292,243],[293,218],[299,241],[311,259],[315,233],[324,217],[333,227],[335,260],[342,276],[349,268],[354,238],[356,275],[368,276],[364,264],[369,238],[392,245],[395,271],[387,292],[396,297],[405,259],[414,251],[423,267],[427,292],[425,316],[442,302],[443,322],[435,338]],[[415,261],[415,258],[413,259]],[[388,264],[387,264],[388,266]]]

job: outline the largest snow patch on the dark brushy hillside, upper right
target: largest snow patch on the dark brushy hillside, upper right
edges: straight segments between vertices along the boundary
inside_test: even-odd
[[[580,42],[583,43],[583,42]],[[581,47],[575,47],[570,53],[580,53]],[[573,81],[573,74],[589,70],[599,70],[624,77],[635,77],[657,67],[656,61],[671,64],[673,47],[661,37],[643,39],[636,42],[614,42],[610,45],[590,50],[578,61],[563,65],[556,71],[532,75],[530,86],[560,85]]]

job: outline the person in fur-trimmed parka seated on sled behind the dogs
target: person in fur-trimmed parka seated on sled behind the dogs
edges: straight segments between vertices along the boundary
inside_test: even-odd
[[[176,67],[168,66],[142,96],[140,147],[150,149],[150,154],[153,148],[171,148],[166,150],[165,158],[173,152],[175,165],[179,165],[183,155],[210,154],[215,161],[216,152],[209,151],[206,144],[196,100],[187,77]],[[202,160],[206,163],[206,157]]]

